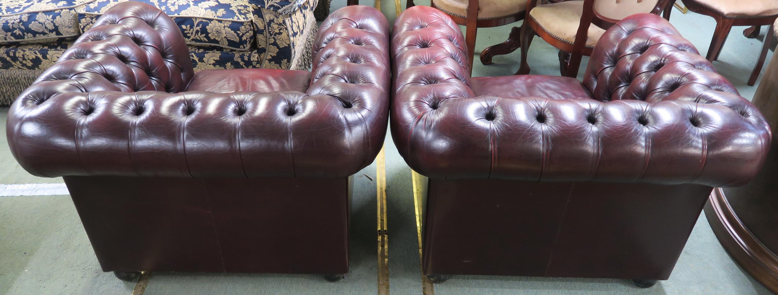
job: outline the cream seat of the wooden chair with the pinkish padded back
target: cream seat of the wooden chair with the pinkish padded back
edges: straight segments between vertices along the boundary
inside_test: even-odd
[[[576,32],[584,12],[584,0],[557,2],[535,6],[530,11],[530,17],[558,40],[572,44],[576,40]],[[605,29],[592,24],[589,26],[586,46],[594,47]]]

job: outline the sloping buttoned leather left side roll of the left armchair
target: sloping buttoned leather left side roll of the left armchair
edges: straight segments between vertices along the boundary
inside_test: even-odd
[[[59,92],[180,92],[194,75],[188,53],[172,19],[151,5],[122,2],[20,97],[40,104]]]

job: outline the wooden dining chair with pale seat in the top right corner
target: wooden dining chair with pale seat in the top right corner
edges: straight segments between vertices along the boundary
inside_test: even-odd
[[[670,12],[675,0],[669,0],[670,4],[664,8],[664,19],[670,20]],[[683,0],[692,12],[710,16],[716,19],[716,30],[713,31],[713,40],[710,40],[710,47],[705,58],[708,61],[719,59],[721,47],[724,47],[724,41],[727,40],[732,26],[756,26],[753,30],[746,29],[747,36],[753,33],[759,33],[759,26],[770,26],[778,18],[778,0]],[[766,46],[769,46],[773,36],[772,27],[767,30],[765,35]],[[753,86],[756,78],[759,76],[759,70],[765,62],[766,49],[762,50],[759,59],[756,61],[755,73],[748,78],[748,85]]]

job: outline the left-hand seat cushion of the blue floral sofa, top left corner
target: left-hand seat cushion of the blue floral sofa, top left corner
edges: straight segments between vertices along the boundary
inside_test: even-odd
[[[75,9],[95,0],[0,0],[0,44],[75,39]]]

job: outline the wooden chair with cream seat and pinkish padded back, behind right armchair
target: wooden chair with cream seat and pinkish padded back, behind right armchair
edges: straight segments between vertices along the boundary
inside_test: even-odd
[[[559,49],[559,71],[576,77],[581,58],[590,56],[605,29],[636,13],[659,14],[668,0],[569,0],[537,5],[527,2],[521,26],[521,66],[529,74],[527,52],[535,34]]]

